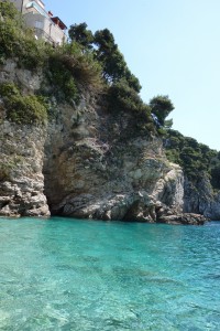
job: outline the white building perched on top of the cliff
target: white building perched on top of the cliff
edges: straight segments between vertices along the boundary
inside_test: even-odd
[[[10,0],[23,14],[26,26],[33,28],[36,39],[44,39],[53,44],[63,44],[67,36],[67,26],[58,17],[53,17],[51,11],[45,10],[41,0]]]

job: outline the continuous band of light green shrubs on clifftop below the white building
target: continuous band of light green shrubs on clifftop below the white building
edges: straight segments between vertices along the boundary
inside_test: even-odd
[[[28,70],[43,68],[51,88],[42,88],[44,95],[54,94],[58,100],[78,103],[77,83],[97,87],[101,84],[101,68],[89,52],[82,54],[79,46],[68,44],[57,49],[36,41],[26,29],[12,3],[0,2],[0,60],[14,58]]]

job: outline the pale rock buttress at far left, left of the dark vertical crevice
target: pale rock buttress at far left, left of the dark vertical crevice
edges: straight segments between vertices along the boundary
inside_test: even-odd
[[[33,126],[0,124],[0,215],[50,215],[43,193],[45,131]]]

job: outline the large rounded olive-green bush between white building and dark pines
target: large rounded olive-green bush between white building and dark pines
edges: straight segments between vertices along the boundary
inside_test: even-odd
[[[45,68],[50,90],[42,88],[45,95],[55,95],[58,102],[79,103],[79,86],[98,90],[102,85],[101,67],[90,52],[81,52],[77,43],[58,47],[48,57]]]

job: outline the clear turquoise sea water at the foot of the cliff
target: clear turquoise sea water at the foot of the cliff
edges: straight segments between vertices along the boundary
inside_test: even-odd
[[[220,223],[0,218],[0,330],[220,330]]]

